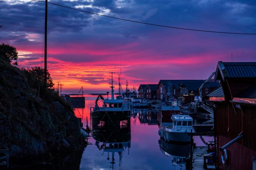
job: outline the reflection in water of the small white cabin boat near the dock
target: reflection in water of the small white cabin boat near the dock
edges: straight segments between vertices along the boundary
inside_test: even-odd
[[[178,143],[165,142],[162,138],[158,140],[160,150],[168,157],[172,158],[173,166],[180,170],[186,169],[186,159],[190,154],[190,144],[179,145]]]

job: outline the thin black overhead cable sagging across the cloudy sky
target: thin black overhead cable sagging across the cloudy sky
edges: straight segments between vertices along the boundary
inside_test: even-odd
[[[45,2],[45,1],[39,1],[39,0],[30,0],[30,1]],[[146,23],[146,22],[140,22],[140,21],[133,21],[133,20],[128,20],[128,19],[123,19],[123,18],[111,17],[111,16],[97,14],[97,13],[93,13],[93,12],[89,12],[89,11],[84,11],[84,10],[81,10],[81,9],[71,8],[71,7],[67,7],[67,6],[64,6],[64,5],[59,5],[59,4],[55,4],[55,3],[51,3],[51,2],[48,2],[48,3],[56,5],[56,6],[64,7],[64,8],[74,9],[74,10],[81,11],[81,12],[87,12],[89,14],[94,14],[94,15],[99,15],[99,16],[103,16],[103,17],[109,17],[109,18],[114,18],[114,19],[119,19],[119,20],[124,20],[124,21],[130,21],[130,22],[135,22],[135,23],[154,25],[154,26],[158,26],[158,27],[166,27],[166,28],[174,28],[174,29],[190,30],[190,31],[201,31],[201,32],[225,33],[225,34],[256,35],[256,33],[222,32],[222,31],[208,31],[208,30],[197,30],[197,29],[189,29],[189,28],[171,27],[171,26],[166,26],[166,25],[152,24],[152,23]]]

